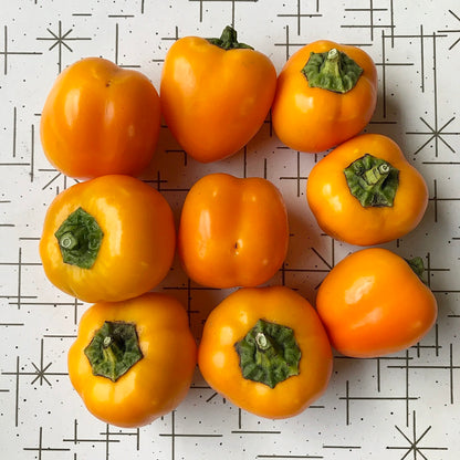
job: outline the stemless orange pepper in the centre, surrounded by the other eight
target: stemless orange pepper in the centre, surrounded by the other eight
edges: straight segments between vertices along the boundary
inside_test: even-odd
[[[283,264],[288,212],[266,179],[210,174],[188,192],[178,252],[189,278],[210,288],[255,286]]]

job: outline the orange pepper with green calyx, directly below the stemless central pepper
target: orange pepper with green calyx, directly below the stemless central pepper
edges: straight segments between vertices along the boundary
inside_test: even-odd
[[[242,288],[209,314],[198,366],[236,406],[275,419],[301,414],[324,394],[333,355],[315,310],[300,294]]]

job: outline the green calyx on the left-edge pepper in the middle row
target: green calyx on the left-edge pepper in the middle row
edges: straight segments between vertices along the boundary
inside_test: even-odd
[[[96,219],[79,208],[64,220],[54,236],[64,263],[91,269],[96,261],[104,233]]]

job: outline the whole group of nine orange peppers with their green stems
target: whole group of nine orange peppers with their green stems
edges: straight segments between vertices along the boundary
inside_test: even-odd
[[[149,424],[182,401],[198,364],[238,407],[293,417],[326,390],[333,348],[378,357],[430,331],[437,302],[421,259],[376,247],[414,230],[428,202],[399,146],[360,134],[377,92],[374,62],[356,46],[307,44],[276,75],[229,27],[219,39],[178,40],[159,94],[140,72],[102,58],[60,74],[42,111],[43,151],[82,181],[50,205],[40,255],[51,283],[93,303],[69,351],[69,375],[94,416]],[[188,155],[210,163],[247,145],[269,113],[288,147],[330,150],[309,176],[307,205],[324,232],[363,247],[325,276],[315,306],[290,288],[264,285],[283,264],[290,234],[272,182],[207,175],[189,190],[176,229],[166,199],[138,178],[161,116]],[[211,311],[198,345],[184,306],[151,292],[176,253],[194,282],[238,288]]]

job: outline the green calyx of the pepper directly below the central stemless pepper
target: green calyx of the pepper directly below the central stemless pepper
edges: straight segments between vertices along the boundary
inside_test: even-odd
[[[259,320],[234,347],[242,376],[248,380],[274,388],[299,375],[301,349],[291,327]]]

